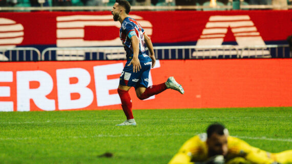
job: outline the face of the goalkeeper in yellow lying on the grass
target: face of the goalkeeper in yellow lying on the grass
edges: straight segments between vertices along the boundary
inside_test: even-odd
[[[209,149],[209,155],[227,155],[228,145],[227,145],[227,135],[219,135],[213,133],[211,137],[207,138],[207,146]]]

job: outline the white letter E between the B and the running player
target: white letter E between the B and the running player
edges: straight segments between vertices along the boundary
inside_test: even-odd
[[[108,75],[120,74],[123,63],[94,66],[97,106],[121,104],[118,94],[110,95],[109,90],[117,89],[119,79],[108,80]]]

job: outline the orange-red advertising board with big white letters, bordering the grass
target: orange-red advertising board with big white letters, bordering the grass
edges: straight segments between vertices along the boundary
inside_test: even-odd
[[[182,84],[139,100],[133,109],[292,106],[292,59],[158,60],[150,85],[169,76]],[[4,62],[0,111],[121,109],[124,61]]]

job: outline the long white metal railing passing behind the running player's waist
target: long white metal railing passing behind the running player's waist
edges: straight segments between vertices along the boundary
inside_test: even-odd
[[[271,58],[285,57],[289,45],[214,45],[214,46],[154,46],[157,59],[211,59],[211,58]],[[279,54],[282,54],[280,56]],[[284,54],[284,55],[283,55]],[[289,53],[289,57],[292,54]],[[123,47],[48,48],[41,60],[123,60]]]

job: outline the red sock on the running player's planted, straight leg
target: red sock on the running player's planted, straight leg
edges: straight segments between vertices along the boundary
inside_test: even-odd
[[[134,119],[133,112],[132,112],[132,101],[127,90],[121,90],[118,88],[118,93],[122,103],[122,110],[124,114],[127,116],[127,120]]]

